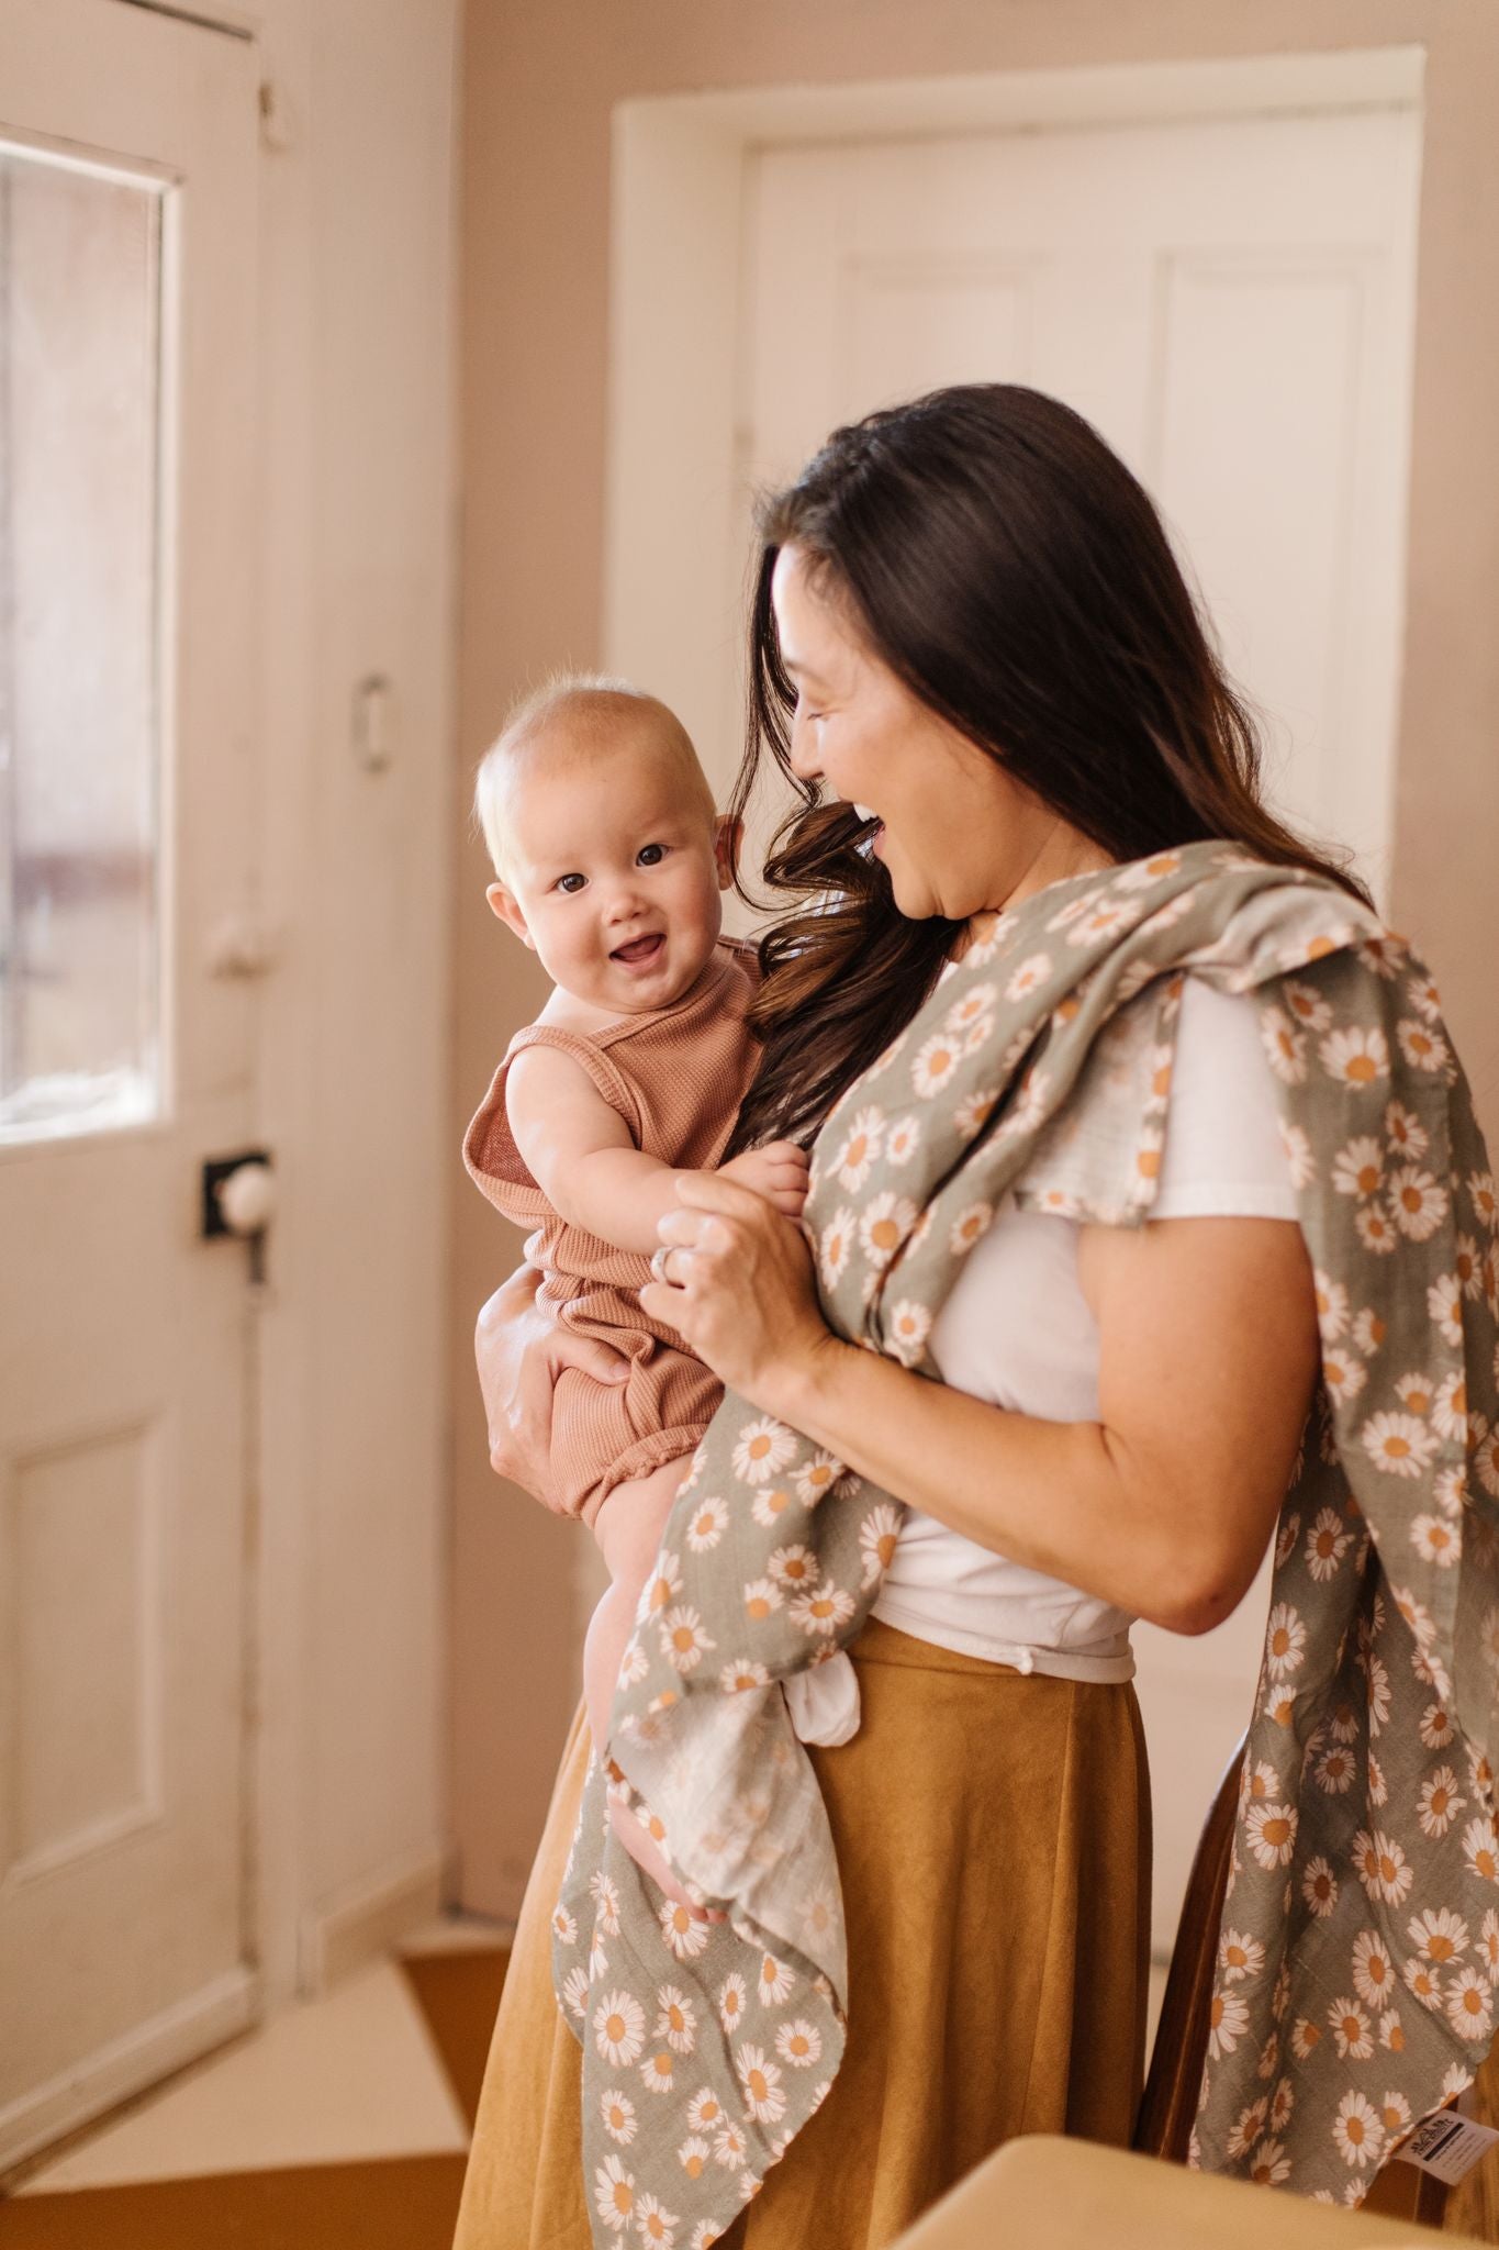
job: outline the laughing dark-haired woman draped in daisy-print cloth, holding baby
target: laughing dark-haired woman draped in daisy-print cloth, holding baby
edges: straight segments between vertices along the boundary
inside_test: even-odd
[[[1382,1379],[1378,1339],[1369,1368],[1333,1350],[1353,1305],[1342,1280],[1312,1278],[1308,1242],[1353,1271],[1382,1256],[1380,1224],[1407,1260],[1468,1240],[1454,1206],[1436,1208],[1447,1190],[1396,1174],[1384,1141],[1362,1150],[1378,1186],[1353,1141],[1351,1184],[1333,1181],[1348,1125],[1330,1105],[1369,1109],[1393,1069],[1411,1078],[1411,1102],[1391,1105],[1407,1130],[1445,1130],[1416,1109],[1454,1100],[1441,1033],[1420,1030],[1434,999],[1420,1012],[1418,972],[1398,986],[1418,1010],[1402,1062],[1393,1019],[1391,1037],[1344,1028],[1339,1010],[1402,963],[1351,878],[1256,801],[1250,724],[1146,495],[1094,432],[1032,392],[935,394],[836,432],[762,529],[739,799],[769,745],[805,799],[769,878],[809,907],[762,950],[766,1060],[739,1145],[820,1134],[818,1262],[728,1181],[683,1184],[663,1222],[649,1310],[730,1397],[667,1530],[658,1586],[674,1606],[658,1647],[641,1636],[611,1739],[616,1796],[665,1827],[688,1894],[730,1922],[672,1928],[663,1908],[661,1933],[645,1928],[654,1901],[598,1861],[596,1773],[553,1922],[575,2027],[557,2016],[542,1928],[584,1793],[575,1735],[517,1933],[461,2250],[582,2250],[589,2228],[692,2250],[863,2250],[1009,2133],[1128,2138],[1148,1897],[1128,1624],[1216,1624],[1292,1472],[1292,1501],[1326,1498],[1357,1456],[1357,1424],[1301,1442],[1319,1314],[1337,1413],[1371,1368],[1371,1395]],[[1481,1145],[1472,1161],[1481,1215]],[[1373,1202],[1396,1177],[1389,1192],[1418,1213]],[[1355,1208],[1357,1251],[1328,1233]],[[1492,1300],[1492,1258],[1465,1303],[1483,1289]],[[499,1312],[515,1346],[515,1294]],[[1479,1314],[1443,1314],[1450,1350],[1479,1368]],[[490,1352],[494,1334],[481,1328],[492,1397],[515,1364]],[[578,1364],[551,1341],[524,1364],[521,1433],[562,1359]],[[1261,1802],[1243,1816],[1252,1928],[1225,1933],[1214,2002],[1207,2160],[1288,2178],[1283,2149],[1315,2115],[1292,2185],[1351,2176],[1355,2198],[1396,2097],[1380,2115],[1357,2074],[1346,2099],[1319,2084],[1335,2117],[1324,2131],[1308,2099],[1292,2128],[1294,2070],[1324,2025],[1283,2018],[1301,1955],[1351,1948],[1342,1973],[1364,1982],[1335,2036],[1353,2070],[1389,2020],[1382,1980],[1420,1958],[1398,1951],[1409,1854],[1382,1829],[1353,1834],[1353,1816],[1387,1786],[1369,1735],[1391,1701],[1391,1634],[1409,1634],[1416,1674],[1400,1714],[1416,1688],[1432,1708],[1450,1699],[1456,1624],[1425,1600],[1443,1564],[1416,1557],[1382,1593],[1380,1555],[1405,1544],[1414,1480],[1432,1487],[1429,1523],[1461,1505],[1459,1361],[1441,1382],[1432,1352],[1411,1361],[1400,1411],[1364,1436],[1357,1501],[1344,1478],[1344,1512],[1321,1510],[1330,1528],[1285,1503],[1283,1568],[1301,1566],[1306,1530],[1326,1618],[1335,1598],[1346,1618],[1308,1652],[1301,1613],[1272,1616],[1256,1724],[1279,1730],[1277,1755],[1252,1744]],[[1459,1485],[1436,1492],[1454,1447]],[[501,1433],[497,1465],[515,1462]],[[800,1753],[775,1683],[841,1645],[863,1724]],[[1362,1699],[1348,1714],[1360,1663],[1369,1717]],[[1463,1703],[1459,1721],[1441,1712],[1443,1739],[1481,1746],[1477,1699]],[[1317,1856],[1292,1870],[1312,1886],[1292,1908],[1303,1784],[1281,1742],[1299,1753],[1308,1737],[1348,1766],[1321,1786],[1346,1854],[1373,1870],[1362,1930],[1344,1930],[1357,1883],[1335,1915],[1339,1876],[1328,1865],[1326,1904]],[[1474,1778],[1486,1818],[1483,1789]],[[1461,1802],[1456,1778],[1447,1798]],[[1445,1820],[1420,1870],[1436,1912],[1468,1904],[1488,1850],[1454,1858]],[[1495,1940],[1499,1966],[1499,1919]],[[1312,1984],[1324,1973],[1308,1962]],[[1425,2012],[1411,2086],[1436,2097],[1483,2012],[1407,1984]],[[1398,2077],[1402,2045],[1387,2041],[1375,2074]]]

